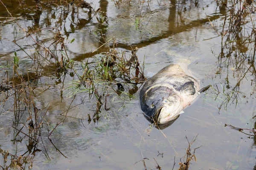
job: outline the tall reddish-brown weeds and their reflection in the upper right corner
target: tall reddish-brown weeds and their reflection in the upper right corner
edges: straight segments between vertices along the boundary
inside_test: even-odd
[[[244,99],[240,85],[244,79],[256,79],[254,57],[256,52],[256,32],[251,14],[255,7],[252,3],[239,0],[223,0],[218,4],[221,13],[225,14],[221,30],[221,51],[218,55],[216,77],[224,77],[225,82],[213,88],[215,99],[222,100],[221,109],[227,110],[228,104],[237,104]],[[235,79],[236,78],[236,79]],[[235,85],[231,85],[235,80]]]

